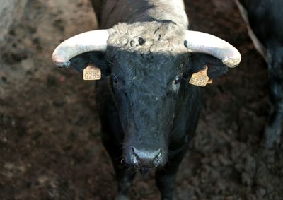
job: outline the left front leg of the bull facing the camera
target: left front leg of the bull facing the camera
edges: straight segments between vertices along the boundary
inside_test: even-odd
[[[103,138],[103,145],[112,159],[112,164],[118,182],[118,194],[116,200],[128,200],[129,189],[132,185],[135,171],[133,169],[127,169],[123,164],[121,146],[118,146],[116,142],[112,141],[112,139],[105,138]]]

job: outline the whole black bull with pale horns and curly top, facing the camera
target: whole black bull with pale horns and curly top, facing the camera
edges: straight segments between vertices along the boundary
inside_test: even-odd
[[[162,199],[173,198],[175,175],[202,109],[202,88],[188,81],[205,66],[213,79],[241,60],[226,42],[214,47],[215,42],[208,41],[208,49],[203,42],[192,47],[184,39],[187,28],[175,23],[183,16],[175,21],[170,16],[156,19],[147,16],[151,8],[156,5],[141,9],[147,22],[122,23],[109,30],[105,47],[99,41],[95,47],[86,45],[86,50],[76,52],[81,47],[71,39],[53,54],[57,66],[74,66],[81,72],[94,64],[102,71],[103,78],[96,82],[96,105],[103,144],[117,175],[118,199],[127,199],[137,169],[146,174],[153,168]],[[158,9],[164,13],[162,6]]]

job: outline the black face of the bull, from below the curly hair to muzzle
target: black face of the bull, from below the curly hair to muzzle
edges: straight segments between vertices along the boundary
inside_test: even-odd
[[[115,52],[112,85],[125,132],[125,162],[138,167],[166,163],[186,54]]]

